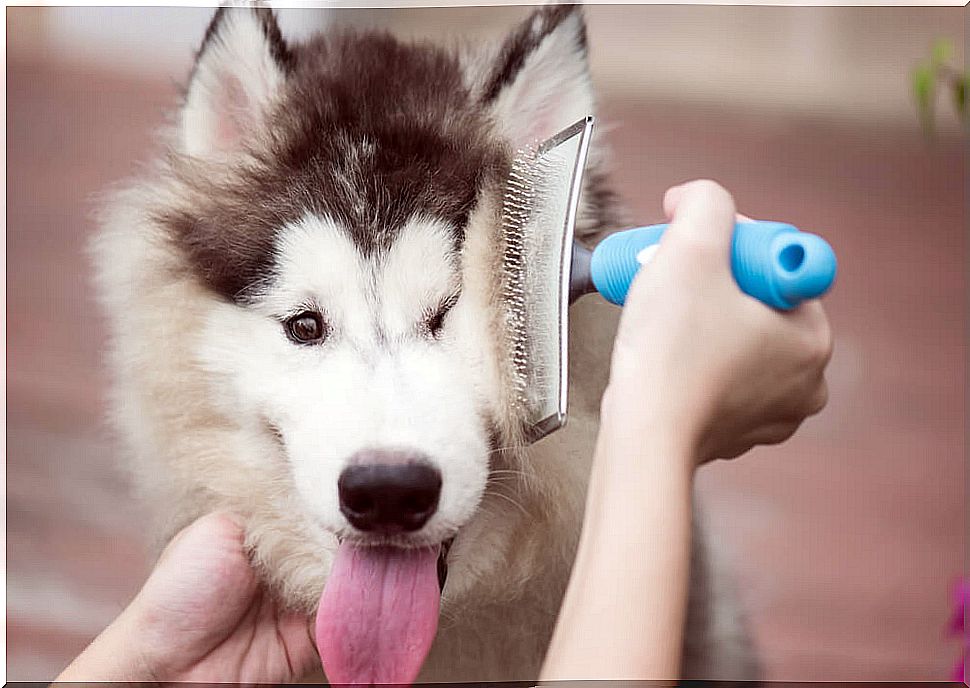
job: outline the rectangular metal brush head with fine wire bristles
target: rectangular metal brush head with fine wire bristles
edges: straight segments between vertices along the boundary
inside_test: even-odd
[[[593,118],[516,154],[502,206],[513,404],[528,442],[566,422],[573,230]]]

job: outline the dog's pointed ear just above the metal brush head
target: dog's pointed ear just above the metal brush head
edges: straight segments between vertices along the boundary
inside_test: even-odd
[[[481,98],[516,148],[593,114],[582,7],[533,12],[505,40]]]

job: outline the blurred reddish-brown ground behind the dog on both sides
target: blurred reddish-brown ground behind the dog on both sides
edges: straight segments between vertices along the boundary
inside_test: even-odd
[[[174,85],[45,62],[7,73],[7,678],[49,680],[147,570],[103,430],[103,327],[83,246]],[[634,216],[718,179],[840,259],[831,402],[781,448],[706,468],[769,678],[942,680],[964,560],[966,176],[960,142],[604,98]],[[601,127],[601,134],[606,127]]]

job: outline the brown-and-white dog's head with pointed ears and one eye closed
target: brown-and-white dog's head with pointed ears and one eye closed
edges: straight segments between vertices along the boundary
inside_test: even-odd
[[[510,466],[505,176],[518,147],[592,110],[571,6],[463,51],[373,33],[291,45],[269,10],[217,11],[152,214],[211,297],[192,365],[235,439],[207,455],[248,476],[245,494],[232,466],[191,479],[285,514],[288,532],[253,537],[270,569],[290,562],[295,597],[319,584],[306,564],[328,537],[448,542]],[[609,202],[589,179],[580,235]]]

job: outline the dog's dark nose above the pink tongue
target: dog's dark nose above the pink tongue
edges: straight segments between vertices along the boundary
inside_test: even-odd
[[[341,513],[358,530],[383,534],[418,530],[438,508],[441,473],[411,457],[404,461],[390,453],[378,457],[398,460],[359,462],[340,474]]]

